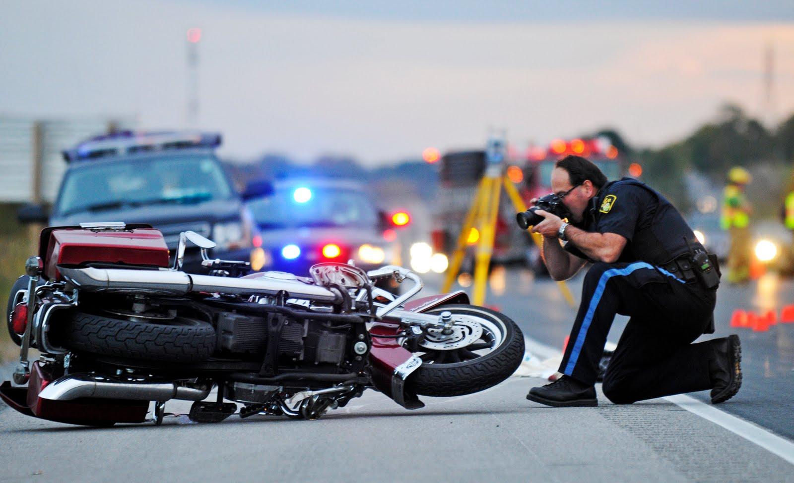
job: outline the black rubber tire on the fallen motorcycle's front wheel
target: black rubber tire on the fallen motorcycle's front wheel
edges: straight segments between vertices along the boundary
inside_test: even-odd
[[[452,310],[453,313],[455,308],[456,305],[444,307]],[[521,329],[513,320],[499,312],[483,307],[476,309],[491,312],[503,320],[509,332],[508,342],[501,350],[471,361],[438,365],[422,364],[407,380],[410,391],[418,396],[464,396],[493,387],[515,373],[524,358],[524,335]]]

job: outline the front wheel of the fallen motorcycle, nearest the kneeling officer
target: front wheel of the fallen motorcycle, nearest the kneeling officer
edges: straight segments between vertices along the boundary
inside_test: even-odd
[[[422,366],[406,383],[419,396],[452,397],[488,389],[515,373],[524,357],[524,336],[510,318],[476,305],[442,305],[426,313],[452,312],[456,325],[479,324],[481,333],[464,347],[460,343],[425,344],[414,352]],[[421,344],[420,344],[421,345]]]

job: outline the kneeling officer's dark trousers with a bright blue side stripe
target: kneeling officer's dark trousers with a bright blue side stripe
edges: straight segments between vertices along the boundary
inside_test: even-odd
[[[711,341],[693,344],[710,322],[716,291],[684,283],[644,262],[595,263],[560,372],[595,384],[615,314],[630,316],[607,366],[603,393],[618,404],[711,389]]]

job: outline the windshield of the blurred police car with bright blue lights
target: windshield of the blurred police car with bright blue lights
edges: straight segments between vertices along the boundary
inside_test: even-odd
[[[310,197],[295,201],[301,186],[276,187],[272,196],[249,203],[260,228],[372,227],[378,213],[363,192],[306,185]],[[304,190],[306,188],[303,188]],[[306,193],[306,192],[304,192]]]

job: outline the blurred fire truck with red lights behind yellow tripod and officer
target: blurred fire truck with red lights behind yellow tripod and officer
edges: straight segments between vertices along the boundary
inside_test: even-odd
[[[629,171],[626,159],[604,138],[553,140],[545,147],[530,147],[524,159],[508,156],[506,168],[508,178],[515,183],[527,206],[532,198],[551,193],[554,163],[566,155],[590,159],[609,180],[619,179]],[[472,205],[477,183],[483,177],[486,153],[483,150],[448,152],[441,157],[439,165],[441,186],[434,213],[434,250],[450,255]],[[639,175],[633,174],[635,177]],[[472,241],[472,245],[474,243]],[[491,262],[522,263],[535,274],[546,273],[540,251],[530,239],[529,232],[522,231],[515,224],[515,208],[506,194],[499,198]],[[464,259],[462,271],[471,270],[472,264],[473,247]]]

